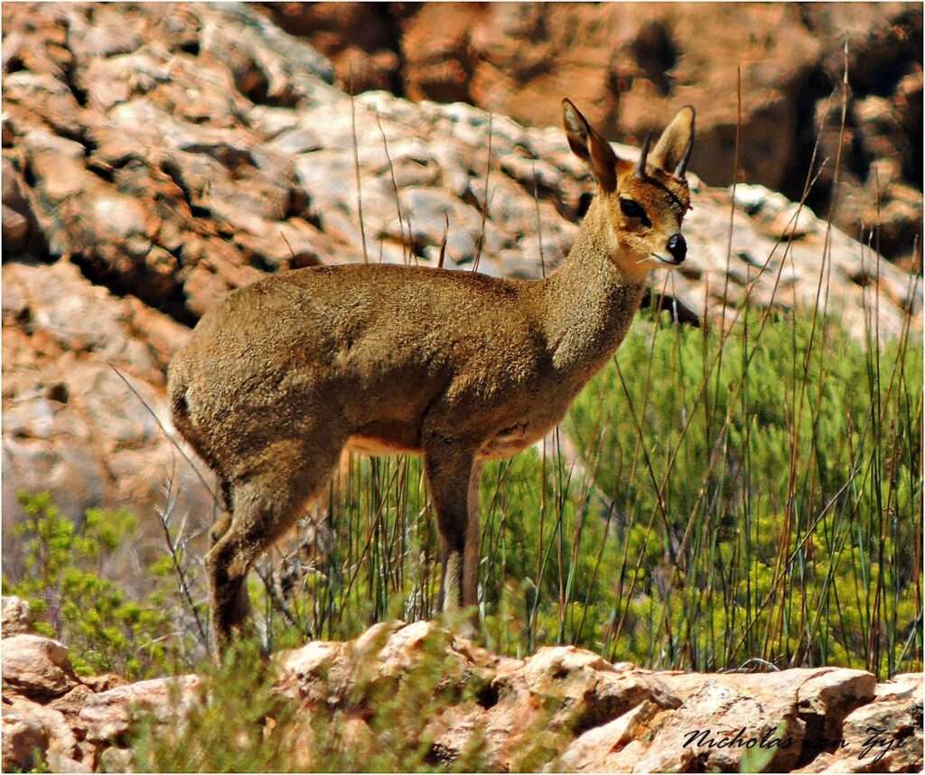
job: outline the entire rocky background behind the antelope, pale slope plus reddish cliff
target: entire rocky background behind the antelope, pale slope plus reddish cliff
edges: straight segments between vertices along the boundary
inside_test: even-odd
[[[697,106],[689,257],[653,275],[650,303],[704,325],[819,298],[857,336],[875,305],[883,338],[920,326],[921,6],[2,13],[5,527],[20,489],[75,519],[124,506],[145,523],[167,479],[209,522],[161,429],[166,365],[266,272],[435,264],[444,235],[450,268],[551,271],[591,191],[564,95],[628,157]]]

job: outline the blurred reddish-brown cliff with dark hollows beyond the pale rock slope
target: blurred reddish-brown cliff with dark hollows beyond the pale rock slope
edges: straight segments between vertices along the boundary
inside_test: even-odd
[[[882,252],[921,265],[922,17],[907,4],[265,5],[355,91],[467,102],[538,127],[559,123],[549,94],[568,94],[609,136],[636,142],[680,105],[697,105],[692,165],[712,185],[732,181],[740,117],[740,179],[791,197],[819,137],[830,164],[810,203],[834,205],[852,233],[881,224]],[[845,65],[846,151],[833,202]]]

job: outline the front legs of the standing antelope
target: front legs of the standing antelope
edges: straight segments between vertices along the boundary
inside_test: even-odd
[[[478,481],[475,455],[450,442],[425,448],[425,469],[440,533],[440,608],[478,605]],[[475,611],[474,623],[478,621]]]

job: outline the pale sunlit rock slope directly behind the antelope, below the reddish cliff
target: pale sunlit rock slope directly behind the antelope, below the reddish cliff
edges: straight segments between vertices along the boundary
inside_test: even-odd
[[[3,21],[6,526],[20,489],[51,489],[74,517],[121,506],[150,525],[166,480],[209,522],[209,483],[161,430],[164,375],[229,289],[314,264],[436,264],[444,235],[450,268],[539,277],[586,205],[560,129],[384,91],[351,101],[324,57],[250,6],[12,4]],[[558,115],[561,91],[549,84],[537,109]],[[709,147],[715,106],[695,102]],[[876,299],[882,337],[910,311],[920,325],[916,277],[879,262],[857,228],[830,230],[758,185],[733,199],[691,180],[688,260],[653,275],[650,302],[709,323],[746,299],[820,298],[861,336]]]

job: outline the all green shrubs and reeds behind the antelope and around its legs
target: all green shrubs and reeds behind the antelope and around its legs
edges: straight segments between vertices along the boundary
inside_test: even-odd
[[[876,348],[833,321],[754,313],[731,333],[638,322],[554,439],[487,465],[487,646],[572,643],[663,669],[921,670],[921,384],[908,335]],[[146,676],[206,656],[202,565],[179,528],[145,571],[158,584],[130,599],[114,573],[128,514],[75,526],[47,496],[23,502],[24,572],[6,591],[47,615],[79,670]],[[429,511],[420,461],[351,458],[300,540],[252,574],[265,646],[432,618]]]

